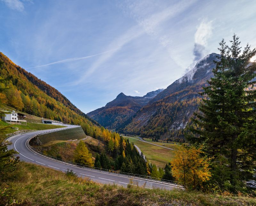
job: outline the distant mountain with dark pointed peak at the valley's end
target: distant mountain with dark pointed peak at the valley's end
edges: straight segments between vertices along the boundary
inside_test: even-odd
[[[126,96],[124,93],[117,95],[116,99],[97,110],[87,113],[89,117],[99,122],[102,126],[114,129],[132,117],[141,107],[164,89],[148,92],[144,96]]]

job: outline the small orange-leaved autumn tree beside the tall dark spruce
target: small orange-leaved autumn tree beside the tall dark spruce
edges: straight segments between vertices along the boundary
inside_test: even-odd
[[[171,161],[172,175],[185,188],[202,188],[203,183],[211,177],[210,159],[204,155],[202,146],[177,145]]]

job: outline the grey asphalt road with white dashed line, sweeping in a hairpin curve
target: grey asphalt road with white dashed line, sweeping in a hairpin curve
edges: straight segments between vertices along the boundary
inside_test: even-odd
[[[67,126],[68,129],[75,128],[78,126],[74,125],[64,125]],[[172,190],[174,188],[176,189],[182,189],[182,187],[175,185],[175,184],[166,184],[161,181],[155,181],[155,180],[149,180],[149,179],[143,179],[143,178],[131,178],[127,175],[121,175],[116,173],[109,173],[109,172],[103,172],[99,170],[94,170],[90,168],[80,168],[76,167],[74,165],[68,165],[62,162],[58,162],[49,158],[46,158],[44,156],[38,155],[35,152],[28,149],[26,145],[26,141],[37,134],[43,134],[45,132],[55,132],[59,130],[63,130],[67,128],[58,128],[58,129],[48,129],[48,130],[41,130],[41,131],[34,131],[24,134],[18,134],[14,135],[11,138],[8,138],[8,141],[12,142],[12,145],[8,146],[8,149],[14,149],[17,152],[19,152],[18,156],[20,156],[20,160],[23,160],[25,162],[30,162],[34,164],[39,164],[44,167],[49,167],[55,170],[60,170],[62,172],[65,172],[68,169],[72,169],[73,172],[75,172],[80,177],[87,177],[92,179],[92,181],[100,182],[104,184],[117,184],[122,185],[126,187],[129,183],[133,185],[138,185],[140,187],[145,187],[149,189],[153,188],[161,188],[161,189],[167,189]]]

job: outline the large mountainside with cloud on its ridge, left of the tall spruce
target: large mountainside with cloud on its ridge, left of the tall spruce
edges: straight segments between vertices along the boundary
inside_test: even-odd
[[[198,92],[202,91],[202,87],[207,85],[206,81],[212,76],[216,55],[212,53],[197,62],[191,71],[156,95],[117,128],[118,131],[174,141],[183,139],[189,118],[201,101]]]

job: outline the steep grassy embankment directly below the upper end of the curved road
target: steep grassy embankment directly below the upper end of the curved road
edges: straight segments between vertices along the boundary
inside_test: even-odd
[[[62,141],[62,140],[76,140],[76,139],[81,140],[81,139],[84,139],[85,137],[86,135],[84,134],[84,130],[81,127],[39,135],[40,141],[43,144],[48,143],[47,145],[50,145],[52,143],[56,143],[56,141]]]

